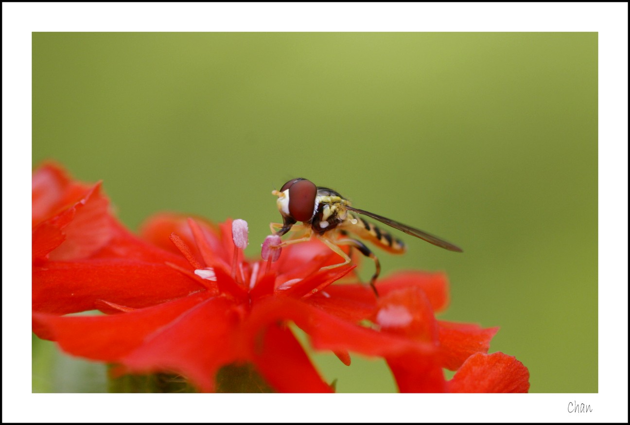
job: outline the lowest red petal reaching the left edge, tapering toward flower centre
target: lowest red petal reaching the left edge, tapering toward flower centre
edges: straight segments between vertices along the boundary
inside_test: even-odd
[[[204,299],[204,294],[194,294],[159,306],[110,316],[60,317],[33,313],[33,331],[40,337],[59,342],[64,351],[74,356],[118,361],[142,345],[148,335]]]

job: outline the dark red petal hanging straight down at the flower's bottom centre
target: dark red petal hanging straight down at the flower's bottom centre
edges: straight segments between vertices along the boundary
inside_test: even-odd
[[[256,368],[278,392],[332,392],[290,330],[271,325],[264,332],[259,350],[255,347]]]

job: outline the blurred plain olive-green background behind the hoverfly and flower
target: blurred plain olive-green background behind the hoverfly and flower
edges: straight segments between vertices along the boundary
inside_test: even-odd
[[[597,33],[33,33],[33,166],[157,211],[249,223],[294,177],[460,245],[398,233],[383,274],[444,270],[445,320],[500,326],[531,392],[597,392]],[[372,273],[364,263],[362,276]],[[382,361],[315,361],[392,392]],[[33,338],[33,392],[105,391]]]

